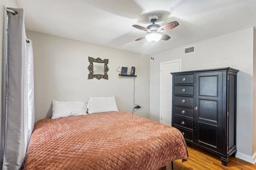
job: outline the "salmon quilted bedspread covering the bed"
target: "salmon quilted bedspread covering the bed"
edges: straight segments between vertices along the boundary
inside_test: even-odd
[[[24,170],[158,170],[188,160],[180,131],[124,111],[36,122]]]

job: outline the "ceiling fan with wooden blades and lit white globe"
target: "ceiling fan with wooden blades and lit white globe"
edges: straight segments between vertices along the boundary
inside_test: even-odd
[[[146,31],[148,33],[148,35],[146,35],[144,37],[140,37],[140,38],[136,39],[135,41],[139,41],[144,38],[146,38],[146,40],[149,42],[157,42],[160,39],[166,41],[166,40],[170,39],[171,37],[169,35],[163,34],[162,32],[173,29],[179,25],[179,23],[177,21],[172,21],[172,22],[166,23],[162,26],[158,25],[155,23],[158,20],[157,15],[150,16],[149,20],[150,20],[150,22],[152,22],[152,24],[148,25],[146,28],[142,27],[140,25],[132,25],[133,27],[140,29],[142,31]]]

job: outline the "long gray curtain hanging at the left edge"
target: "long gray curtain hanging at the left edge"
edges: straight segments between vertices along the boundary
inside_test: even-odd
[[[3,169],[22,168],[34,128],[34,63],[32,41],[26,39],[24,10],[7,8],[6,57],[3,70]]]

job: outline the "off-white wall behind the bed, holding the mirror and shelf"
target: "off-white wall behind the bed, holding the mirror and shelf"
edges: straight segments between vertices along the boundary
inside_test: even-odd
[[[133,77],[118,77],[117,64],[135,66],[134,114],[149,118],[150,58],[109,47],[27,31],[33,41],[36,121],[52,116],[52,100],[87,102],[89,96],[115,96],[118,109],[132,113]],[[108,61],[108,80],[88,80],[88,56]]]

